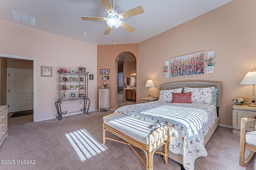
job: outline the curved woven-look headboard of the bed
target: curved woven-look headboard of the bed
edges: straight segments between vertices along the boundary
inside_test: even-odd
[[[167,84],[162,84],[160,86],[161,90],[171,90],[175,88],[183,88],[190,87],[190,88],[204,88],[204,87],[215,87],[218,88],[217,91],[217,103],[216,106],[220,107],[221,105],[221,84],[217,82],[201,82],[201,81],[185,81],[185,82],[172,82]]]

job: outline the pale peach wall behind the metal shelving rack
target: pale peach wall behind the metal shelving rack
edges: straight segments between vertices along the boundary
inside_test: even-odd
[[[60,68],[76,70],[78,67],[86,67],[89,74],[94,74],[94,80],[88,82],[88,96],[92,100],[89,110],[96,109],[96,45],[2,20],[0,25],[0,54],[36,58],[37,121],[57,116],[55,102],[58,98],[57,70]],[[52,77],[41,77],[41,66],[52,66]],[[50,86],[50,90],[44,90],[44,86]],[[67,105],[66,108],[64,105],[63,111],[78,111],[78,107],[82,106],[80,102]]]

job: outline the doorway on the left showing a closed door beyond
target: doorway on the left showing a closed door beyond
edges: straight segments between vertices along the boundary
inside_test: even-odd
[[[8,127],[35,121],[36,59],[0,54],[0,62],[0,104],[9,106]]]

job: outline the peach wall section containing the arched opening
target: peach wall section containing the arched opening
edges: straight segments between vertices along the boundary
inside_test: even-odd
[[[97,46],[97,88],[103,86],[103,80],[100,80],[100,69],[110,69],[110,80],[108,86],[111,88],[111,109],[117,107],[117,79],[118,75],[116,62],[117,58],[123,53],[129,52],[136,57],[138,61],[138,44],[118,44],[118,45],[98,45]],[[137,62],[138,70],[138,62]],[[138,71],[137,71],[138,73]],[[138,80],[138,76],[137,76]],[[116,93],[115,93],[116,91]],[[98,96],[98,94],[97,94]],[[137,98],[138,99],[138,98]],[[98,101],[97,101],[98,107]]]

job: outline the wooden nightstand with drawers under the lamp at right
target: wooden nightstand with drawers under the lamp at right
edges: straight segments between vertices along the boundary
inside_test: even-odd
[[[256,115],[256,107],[250,107],[248,105],[233,105],[232,113],[233,121],[233,135],[240,136],[241,119],[243,117],[249,117]],[[249,121],[246,123],[246,131],[253,131],[253,122]]]

